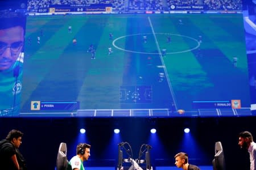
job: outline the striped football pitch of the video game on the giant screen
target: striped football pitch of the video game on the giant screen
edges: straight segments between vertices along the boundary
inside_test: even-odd
[[[242,14],[28,16],[26,39],[22,112],[250,107]]]

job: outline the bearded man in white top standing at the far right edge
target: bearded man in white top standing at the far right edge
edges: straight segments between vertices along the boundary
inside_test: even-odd
[[[256,143],[253,142],[253,135],[249,131],[242,131],[238,138],[238,145],[250,154],[250,170],[256,170]]]

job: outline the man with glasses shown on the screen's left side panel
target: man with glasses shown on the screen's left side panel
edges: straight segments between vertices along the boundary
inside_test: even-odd
[[[26,17],[0,11],[0,117],[18,116]]]

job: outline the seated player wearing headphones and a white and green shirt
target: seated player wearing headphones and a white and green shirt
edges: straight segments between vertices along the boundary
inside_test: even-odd
[[[90,157],[90,145],[87,143],[79,143],[76,147],[76,156],[68,163],[67,170],[84,170],[83,162]]]

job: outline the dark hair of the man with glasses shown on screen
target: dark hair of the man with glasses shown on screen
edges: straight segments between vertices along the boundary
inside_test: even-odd
[[[20,26],[24,29],[25,32],[26,16],[20,12],[2,10],[0,11],[0,23],[0,29]]]

